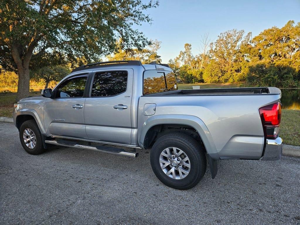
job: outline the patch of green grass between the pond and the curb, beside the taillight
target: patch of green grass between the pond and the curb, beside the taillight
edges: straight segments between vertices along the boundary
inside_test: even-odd
[[[282,110],[279,136],[283,144],[300,146],[300,110]]]

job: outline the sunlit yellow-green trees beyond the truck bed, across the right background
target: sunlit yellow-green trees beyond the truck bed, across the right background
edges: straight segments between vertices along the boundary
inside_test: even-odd
[[[185,44],[184,51],[170,61],[182,83],[247,81],[248,85],[300,87],[300,23],[294,26],[294,21],[281,29],[266,29],[253,39],[251,33],[244,36],[242,30],[230,30],[210,44],[208,53],[193,56],[191,52],[191,45]]]

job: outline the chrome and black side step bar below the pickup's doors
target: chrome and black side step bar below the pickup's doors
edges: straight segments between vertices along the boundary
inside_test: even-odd
[[[120,149],[120,148],[113,148],[113,147],[108,147],[108,146],[84,145],[84,144],[79,144],[79,143],[76,143],[76,142],[73,142],[73,141],[45,140],[45,143],[52,144],[52,145],[65,146],[65,147],[72,147],[72,148],[77,148],[77,149],[94,150],[94,151],[97,151],[97,152],[111,153],[111,154],[115,154],[115,155],[125,155],[125,156],[129,156],[129,157],[132,157],[132,158],[135,158],[139,155],[138,152],[124,151],[124,149]]]

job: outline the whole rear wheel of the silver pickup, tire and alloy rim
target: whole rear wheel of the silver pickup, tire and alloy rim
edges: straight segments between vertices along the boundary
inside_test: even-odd
[[[152,147],[150,162],[161,182],[179,190],[196,186],[206,171],[202,147],[195,139],[181,133],[160,137]]]

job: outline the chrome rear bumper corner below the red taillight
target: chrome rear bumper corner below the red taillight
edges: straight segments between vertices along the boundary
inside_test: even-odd
[[[265,153],[261,160],[275,161],[280,160],[282,155],[282,139],[277,137],[276,139],[267,139],[265,144]]]

